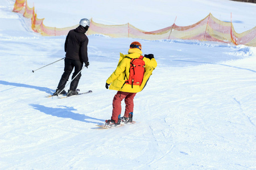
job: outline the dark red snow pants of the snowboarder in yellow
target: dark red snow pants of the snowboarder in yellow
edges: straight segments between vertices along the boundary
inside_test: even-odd
[[[133,99],[136,93],[129,93],[129,92],[121,92],[118,91],[117,94],[114,96],[113,99],[113,111],[111,119],[114,120],[116,123],[118,121],[118,116],[121,114],[122,106],[121,101],[125,99],[125,117],[129,117],[129,113],[133,112]]]

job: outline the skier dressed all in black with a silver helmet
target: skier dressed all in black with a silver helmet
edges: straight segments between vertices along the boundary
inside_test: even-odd
[[[81,77],[81,73],[79,72],[82,69],[83,63],[85,63],[86,67],[89,66],[87,54],[88,37],[85,35],[85,32],[88,31],[88,28],[90,27],[90,21],[84,18],[80,20],[79,24],[79,27],[69,31],[66,37],[64,73],[61,76],[56,92],[53,95],[66,94],[64,87],[74,67],[75,71],[72,75],[72,79],[75,78],[76,75],[77,76],[71,82],[67,95],[71,96],[78,94],[76,88]]]

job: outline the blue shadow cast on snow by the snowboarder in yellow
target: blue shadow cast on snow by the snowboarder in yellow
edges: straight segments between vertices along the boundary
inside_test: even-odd
[[[93,124],[99,124],[99,122],[93,122],[93,121],[89,121],[89,120],[105,121],[105,120],[101,120],[98,118],[85,116],[84,114],[73,113],[72,111],[77,111],[73,107],[61,106],[64,108],[49,108],[49,107],[45,107],[45,106],[39,105],[39,104],[30,104],[30,105],[34,109],[36,109],[40,112],[49,114],[51,116],[62,117],[62,118],[71,118],[76,121],[82,121],[82,122],[93,123]]]

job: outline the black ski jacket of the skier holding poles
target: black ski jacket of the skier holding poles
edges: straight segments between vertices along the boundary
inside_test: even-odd
[[[88,37],[85,35],[85,32],[86,29],[81,25],[68,32],[65,40],[66,58],[88,62]]]

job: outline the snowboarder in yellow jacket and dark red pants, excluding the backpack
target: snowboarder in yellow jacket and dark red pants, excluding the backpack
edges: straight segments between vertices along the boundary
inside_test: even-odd
[[[109,126],[117,126],[121,122],[129,123],[133,122],[133,108],[134,108],[134,96],[137,92],[143,90],[144,86],[146,86],[147,80],[150,78],[152,71],[155,69],[157,63],[153,54],[148,54],[141,56],[142,54],[142,46],[141,43],[134,41],[130,45],[130,49],[128,54],[123,55],[120,53],[120,59],[117,65],[117,69],[109,76],[108,80],[106,80],[106,89],[117,90],[117,94],[113,99],[113,111],[112,117],[110,120],[106,120],[106,125]],[[144,63],[143,70],[143,80],[140,85],[135,83],[129,83],[129,79],[131,74],[130,68],[131,61],[135,58],[142,58]],[[137,73],[138,74],[138,73]],[[134,74],[136,75],[136,73]],[[109,86],[110,85],[110,86]],[[121,101],[125,99],[125,113],[123,117],[121,117]]]

